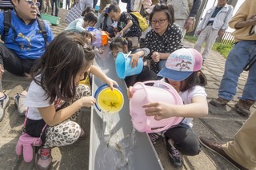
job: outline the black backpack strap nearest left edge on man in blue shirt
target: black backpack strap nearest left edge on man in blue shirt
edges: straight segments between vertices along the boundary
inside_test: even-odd
[[[10,10],[6,10],[4,13],[3,13],[3,26],[4,26],[4,30],[3,30],[3,34],[1,36],[1,40],[2,42],[4,42],[4,39],[5,37],[7,36],[9,30],[10,30],[10,27],[14,30],[14,39],[17,38],[17,33],[16,33],[16,30],[14,28],[14,26],[11,26],[11,13],[10,13]]]

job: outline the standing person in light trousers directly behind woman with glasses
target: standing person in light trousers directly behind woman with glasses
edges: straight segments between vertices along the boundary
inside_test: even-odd
[[[167,0],[167,5],[174,6],[175,23],[182,27],[182,38],[186,34],[186,30],[193,26],[195,16],[202,4],[202,0]]]

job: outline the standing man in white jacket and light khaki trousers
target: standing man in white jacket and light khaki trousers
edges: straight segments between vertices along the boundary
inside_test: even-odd
[[[225,34],[225,30],[228,28],[228,22],[233,15],[233,6],[227,4],[228,0],[218,0],[217,6],[207,10],[206,16],[202,18],[202,22],[198,27],[198,41],[194,45],[194,49],[197,49],[201,53],[203,42],[206,42],[202,57],[206,60],[210,49],[214,45],[216,38],[222,37]]]

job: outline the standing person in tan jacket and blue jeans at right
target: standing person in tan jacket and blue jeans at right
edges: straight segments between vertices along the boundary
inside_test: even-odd
[[[226,105],[237,92],[238,77],[243,67],[256,55],[256,34],[251,30],[256,25],[256,3],[246,0],[230,20],[236,44],[226,59],[224,75],[218,89],[218,99],[210,101],[215,106]],[[256,101],[256,64],[251,65],[242,97],[235,105],[238,113],[250,116],[250,107]]]

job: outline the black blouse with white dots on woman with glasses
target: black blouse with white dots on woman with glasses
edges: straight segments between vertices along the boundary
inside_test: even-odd
[[[146,57],[150,60],[150,69],[158,73],[158,62],[151,58],[153,52],[172,53],[182,48],[182,29],[176,25],[169,25],[166,32],[160,36],[153,29],[146,34],[145,47],[150,49],[150,54]]]

